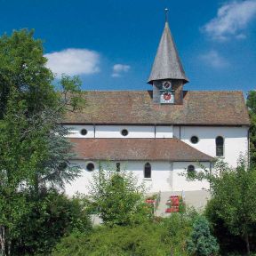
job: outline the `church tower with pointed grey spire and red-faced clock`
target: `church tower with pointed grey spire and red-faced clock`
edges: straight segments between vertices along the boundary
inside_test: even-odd
[[[182,67],[166,19],[164,32],[148,78],[148,84],[153,85],[153,101],[158,104],[181,105],[183,103],[183,85],[186,83],[188,83],[188,78]]]

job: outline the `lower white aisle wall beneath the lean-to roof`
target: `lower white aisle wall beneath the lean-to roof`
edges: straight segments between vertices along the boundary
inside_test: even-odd
[[[95,163],[95,171],[86,171],[86,165],[92,161],[76,161],[76,164],[81,166],[81,177],[77,178],[72,184],[66,185],[66,193],[68,196],[74,195],[76,192],[88,194],[88,186],[90,180],[92,180],[92,173],[97,173],[99,170],[99,163]],[[144,164],[147,161],[130,161],[121,162],[121,169],[127,172],[132,172],[137,178],[139,183],[144,182],[148,188],[148,192],[158,191],[195,191],[202,188],[209,188],[206,181],[188,181],[180,173],[185,172],[189,164],[193,164],[196,167],[196,172],[201,171],[200,166],[197,163],[192,162],[160,162],[151,161],[151,179],[144,179]],[[116,166],[116,162],[103,162],[100,163],[105,170],[113,170]],[[204,166],[209,168],[209,163],[204,163]]]

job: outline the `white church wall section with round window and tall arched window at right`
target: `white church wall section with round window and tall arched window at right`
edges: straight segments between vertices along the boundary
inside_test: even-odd
[[[248,127],[196,127],[196,126],[175,126],[173,136],[188,143],[209,156],[216,156],[215,139],[218,136],[224,138],[223,160],[232,166],[236,166],[238,157],[245,156],[248,151]],[[193,144],[192,136],[198,137],[199,141]]]

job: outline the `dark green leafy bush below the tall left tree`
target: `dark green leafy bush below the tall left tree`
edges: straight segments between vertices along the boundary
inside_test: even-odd
[[[62,236],[71,232],[86,234],[92,225],[83,198],[68,199],[52,190],[38,198],[18,228],[23,235],[12,241],[14,255],[47,255]]]

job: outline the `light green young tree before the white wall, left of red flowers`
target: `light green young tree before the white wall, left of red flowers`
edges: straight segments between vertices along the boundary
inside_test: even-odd
[[[108,168],[107,168],[108,169]],[[145,188],[132,172],[103,170],[93,173],[90,196],[98,206],[100,218],[109,226],[132,225],[147,220]]]

